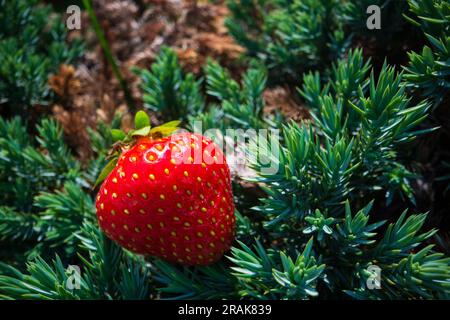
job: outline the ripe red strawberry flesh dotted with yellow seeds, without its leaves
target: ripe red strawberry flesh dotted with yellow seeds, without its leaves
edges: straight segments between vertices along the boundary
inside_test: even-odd
[[[230,171],[222,151],[198,134],[155,138],[141,133],[122,148],[100,187],[100,227],[135,253],[186,265],[217,261],[235,233]]]

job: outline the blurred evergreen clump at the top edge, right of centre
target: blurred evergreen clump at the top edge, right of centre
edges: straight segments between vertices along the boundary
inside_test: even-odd
[[[340,57],[349,39],[336,0],[228,1],[230,34],[248,55],[264,61],[272,79],[299,80]]]

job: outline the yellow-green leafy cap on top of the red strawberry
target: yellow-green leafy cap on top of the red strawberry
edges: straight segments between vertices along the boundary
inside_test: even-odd
[[[131,148],[139,139],[149,138],[153,140],[169,136],[179,128],[180,123],[181,121],[174,120],[152,128],[149,116],[147,113],[140,110],[134,117],[135,128],[133,130],[125,133],[120,129],[111,129],[111,136],[114,143],[108,152],[107,159],[109,159],[109,161],[100,172],[93,189],[100,185],[116,167],[122,152]]]

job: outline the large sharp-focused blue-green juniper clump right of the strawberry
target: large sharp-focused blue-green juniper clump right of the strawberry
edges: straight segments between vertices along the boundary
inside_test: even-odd
[[[310,241],[321,261],[314,262],[312,270],[322,270],[324,264],[319,278],[325,283],[321,292],[325,297],[338,292],[374,299],[447,297],[449,260],[432,246],[421,245],[435,232],[420,233],[426,215],[406,218],[405,211],[377,241],[374,231],[384,221],[368,224],[371,205],[351,213],[349,200],[361,204],[376,197],[379,190],[385,193],[387,205],[398,191],[413,199],[408,181],[412,174],[398,161],[397,149],[424,133],[414,131],[414,127],[426,118],[429,109],[427,103],[410,103],[402,75],[393,68],[384,65],[377,80],[373,72],[368,76],[369,69],[370,64],[364,63],[361,51],[356,50],[333,66],[330,82],[324,86],[317,73],[305,75],[301,93],[311,104],[314,125],[284,127],[284,144],[274,148],[281,152],[273,157],[279,159],[280,170],[259,174],[256,180],[264,184],[267,197],[255,209],[266,216],[265,227],[278,242],[283,239],[284,248],[302,250],[298,245],[314,235]],[[259,163],[254,168],[262,172]],[[304,241],[292,241],[301,234]],[[419,245],[422,249],[416,251]],[[239,264],[245,266],[240,274],[264,279],[258,288],[274,288],[270,273],[264,277],[256,271],[276,269],[260,245],[256,250],[258,253],[246,250],[249,255],[244,259],[246,264]],[[387,286],[384,290],[367,289],[371,265],[381,268],[381,282]],[[295,270],[294,264],[290,266]],[[298,272],[307,274],[307,263],[302,267]],[[286,268],[284,274],[283,283],[292,285]],[[272,276],[276,277],[275,273]],[[301,288],[298,282],[294,287]],[[314,293],[315,288],[308,290]],[[251,292],[257,294],[257,290]]]

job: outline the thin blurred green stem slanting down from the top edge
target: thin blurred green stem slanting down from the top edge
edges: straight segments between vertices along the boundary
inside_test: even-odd
[[[119,80],[120,86],[122,87],[123,93],[125,95],[125,100],[127,102],[128,108],[130,109],[131,112],[134,113],[136,111],[136,105],[134,104],[133,97],[131,96],[130,91],[128,90],[127,83],[124,77],[122,76],[119,67],[117,66],[116,59],[114,59],[114,56],[111,52],[111,48],[109,47],[108,44],[108,40],[106,40],[105,34],[103,33],[100,23],[98,22],[97,16],[95,15],[94,9],[92,8],[91,1],[83,0],[83,4],[86,11],[88,12],[89,18],[91,19],[92,26],[94,27],[94,31],[97,34],[98,40],[100,41],[100,45],[102,46],[103,51],[105,52],[106,59],[108,60],[108,63],[111,66],[117,80]]]

